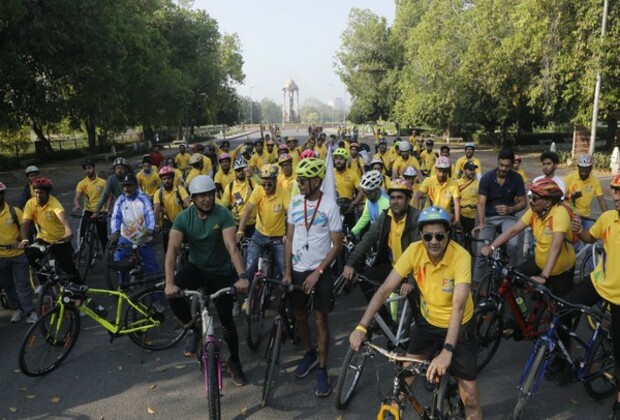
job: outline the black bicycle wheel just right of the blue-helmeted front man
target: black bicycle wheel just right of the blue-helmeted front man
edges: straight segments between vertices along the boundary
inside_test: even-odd
[[[502,341],[503,311],[496,305],[482,305],[474,311],[474,325],[478,340],[478,373],[491,362]]]

